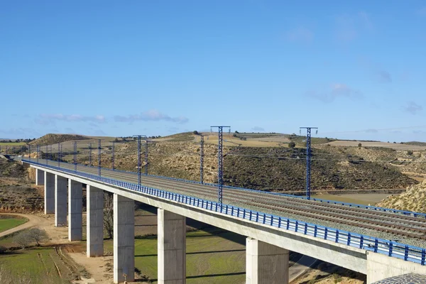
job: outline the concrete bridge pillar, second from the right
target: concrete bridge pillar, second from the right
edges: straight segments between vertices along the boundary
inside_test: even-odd
[[[186,218],[158,208],[158,284],[186,283]]]

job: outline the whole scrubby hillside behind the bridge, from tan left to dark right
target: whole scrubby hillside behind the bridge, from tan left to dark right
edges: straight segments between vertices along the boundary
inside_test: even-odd
[[[143,167],[144,149],[142,147]],[[200,180],[199,143],[150,143],[148,153],[149,174]],[[305,153],[305,148],[224,147],[224,183],[257,190],[303,190]],[[313,149],[312,189],[402,189],[416,184],[416,180],[401,173],[398,167],[382,162],[393,160],[397,155],[397,151],[388,148],[324,146]],[[93,165],[97,165],[96,153],[92,153],[92,160]],[[89,158],[78,155],[78,161],[88,164]],[[136,172],[137,161],[136,142],[116,144],[116,169]],[[102,165],[111,168],[111,151],[102,154]],[[204,182],[217,182],[217,146],[214,144],[204,144]]]

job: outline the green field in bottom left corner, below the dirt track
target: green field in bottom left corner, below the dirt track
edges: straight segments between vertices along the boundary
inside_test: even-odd
[[[56,265],[56,266],[55,266]],[[25,275],[34,284],[70,283],[67,267],[52,247],[40,247],[25,251],[14,251],[0,255],[0,266],[13,277]],[[62,279],[59,275],[61,273]]]

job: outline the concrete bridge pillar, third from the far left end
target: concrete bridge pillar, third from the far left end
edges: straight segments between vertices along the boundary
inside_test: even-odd
[[[55,226],[67,226],[67,178],[55,175]]]

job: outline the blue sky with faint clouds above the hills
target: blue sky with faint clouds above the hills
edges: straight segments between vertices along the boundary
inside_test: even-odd
[[[426,141],[425,1],[0,1],[0,37],[1,138]]]

